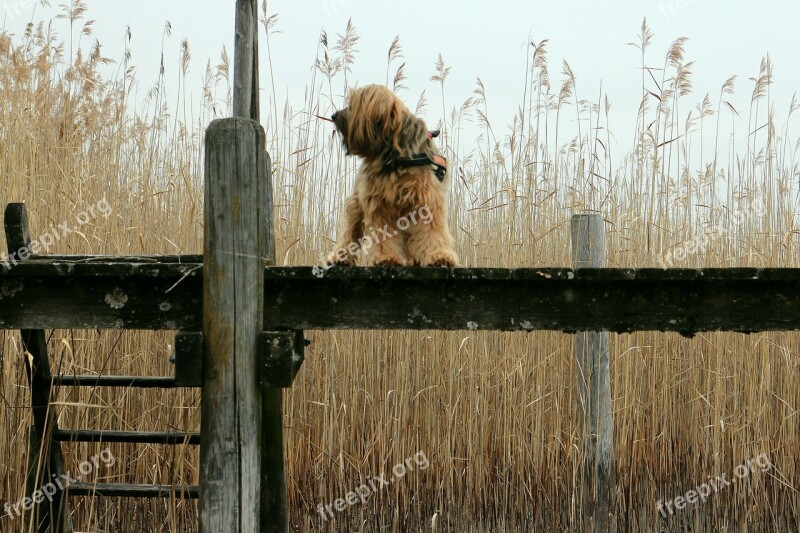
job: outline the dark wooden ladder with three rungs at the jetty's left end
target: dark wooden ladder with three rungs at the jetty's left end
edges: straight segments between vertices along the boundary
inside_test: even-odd
[[[12,252],[29,250],[32,243],[25,204],[9,204],[5,211],[6,243]],[[19,253],[28,256],[27,253]],[[67,473],[61,452],[62,442],[148,443],[180,445],[200,444],[199,433],[108,431],[61,429],[58,416],[51,405],[56,387],[132,387],[139,389],[196,386],[196,383],[176,381],[171,377],[57,375],[50,368],[47,338],[42,329],[20,330],[25,354],[25,371],[31,391],[33,424],[29,430],[28,475],[26,496],[50,483],[54,477]],[[197,498],[199,487],[174,485],[144,485],[131,483],[74,483],[65,491],[57,490],[52,501],[45,499],[34,505],[36,531],[40,533],[72,533],[69,496],[110,496],[132,498]]]

